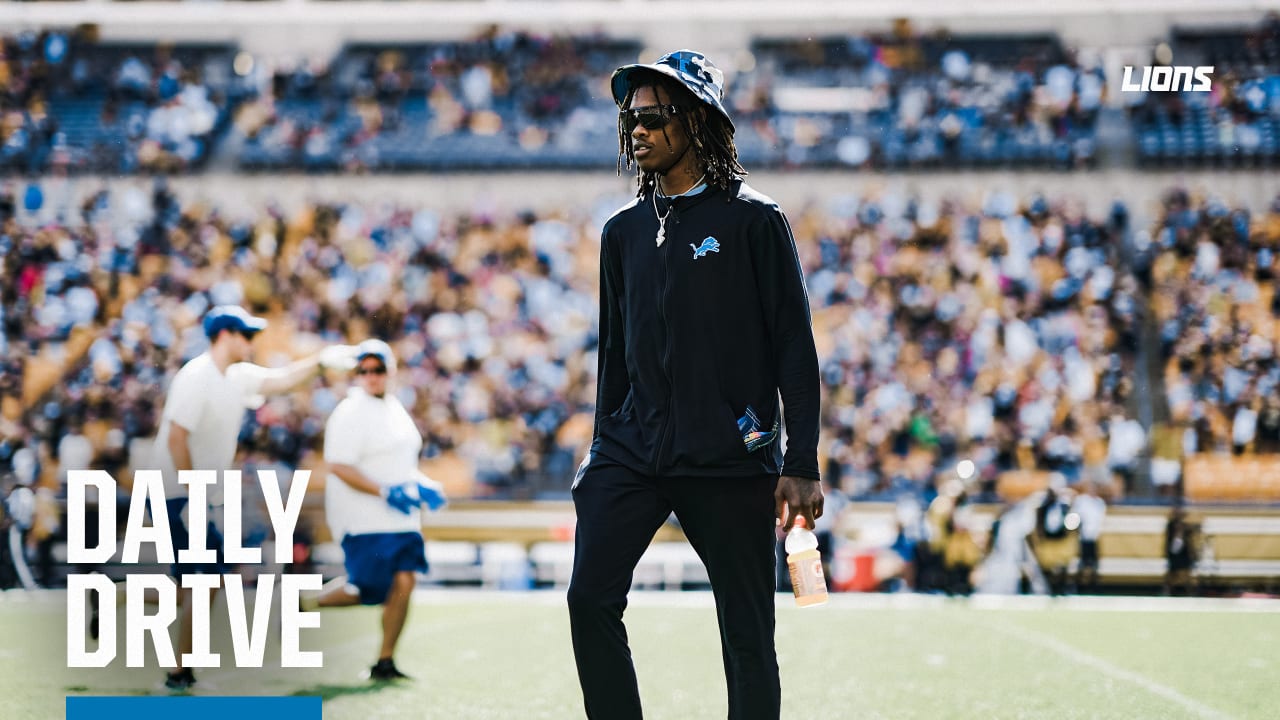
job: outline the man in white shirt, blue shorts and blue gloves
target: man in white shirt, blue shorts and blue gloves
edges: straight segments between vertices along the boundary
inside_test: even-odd
[[[356,387],[325,424],[325,518],[340,538],[347,575],[328,583],[303,607],[383,606],[383,646],[371,680],[398,680],[396,643],[408,616],[408,601],[426,571],[421,505],[444,503],[440,487],[419,470],[422,436],[394,395],[396,356],[380,340],[356,352]]]

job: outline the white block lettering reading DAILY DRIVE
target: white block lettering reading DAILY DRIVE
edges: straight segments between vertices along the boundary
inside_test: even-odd
[[[275,532],[275,556],[278,565],[293,561],[293,533],[302,510],[308,470],[297,470],[289,483],[288,498],[282,497],[280,484],[274,470],[257,471],[259,484],[271,527]],[[86,488],[97,488],[99,497],[115,497],[116,483],[104,470],[72,470],[67,477],[67,560],[70,566],[100,565],[110,562],[119,551],[118,562],[138,565],[143,546],[155,551],[159,564],[205,564],[219,562],[218,552],[210,547],[209,521],[212,516],[224,538],[223,562],[228,568],[259,565],[264,561],[262,550],[242,546],[242,488],[239,470],[183,470],[178,482],[187,488],[189,501],[186,506],[184,524],[189,530],[188,547],[173,547],[169,524],[180,521],[169,518],[165,510],[164,478],[159,470],[140,470],[133,475],[133,491],[129,498],[129,514],[125,523],[123,546],[116,537],[116,506],[114,502],[101,502],[97,537],[86,538]],[[221,502],[210,506],[209,498],[218,497]],[[150,523],[147,507],[150,506]],[[93,511],[91,507],[90,511]],[[154,564],[148,564],[154,568]],[[219,667],[221,653],[211,651],[210,600],[211,591],[227,591],[229,634],[237,667],[262,667],[266,651],[268,629],[271,625],[273,607],[279,610],[280,665],[283,667],[320,667],[324,664],[321,652],[300,650],[300,633],[305,628],[319,628],[317,612],[303,612],[298,596],[302,591],[319,591],[320,575],[302,574],[259,574],[256,592],[246,592],[243,577],[228,571],[225,574],[183,574],[183,589],[192,598],[192,651],[182,655],[183,667]],[[279,602],[273,603],[276,587]],[[150,638],[156,659],[163,666],[177,665],[177,657],[169,637],[179,609],[178,583],[165,574],[129,573],[124,580],[124,648],[125,664],[141,667],[146,644]],[[105,667],[116,655],[116,584],[104,574],[77,574],[67,578],[67,666]],[[147,593],[159,597],[159,606],[148,612],[145,601]],[[88,593],[97,593],[100,638],[97,647],[87,648],[83,623]]]

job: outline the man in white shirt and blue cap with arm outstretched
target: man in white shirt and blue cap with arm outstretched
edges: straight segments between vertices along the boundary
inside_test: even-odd
[[[315,378],[325,368],[349,368],[355,347],[332,346],[284,368],[264,368],[250,363],[253,336],[266,327],[237,305],[219,305],[205,314],[204,331],[209,350],[178,370],[165,396],[156,436],[154,466],[164,474],[165,509],[173,547],[189,547],[186,523],[187,486],[178,483],[180,470],[232,469],[244,410],[257,407],[268,395],[289,392]],[[219,475],[220,478],[220,475]],[[210,488],[207,543],[218,552],[212,564],[174,564],[175,578],[192,573],[227,571],[223,564],[223,537],[214,518],[221,506],[220,486]],[[179,624],[179,666],[165,675],[165,687],[187,691],[196,683],[191,667],[182,667],[182,655],[191,652],[191,592],[182,591]]]

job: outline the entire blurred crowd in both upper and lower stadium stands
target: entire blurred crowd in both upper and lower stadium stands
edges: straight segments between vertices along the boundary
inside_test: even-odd
[[[637,42],[492,29],[270,67],[229,45],[92,35],[0,38],[0,495],[36,487],[58,518],[64,469],[146,466],[164,388],[205,348],[201,314],[242,304],[271,320],[255,343],[265,364],[388,340],[422,460],[452,495],[566,497],[593,424],[598,233],[626,199],[234,215],[163,178],[78,206],[37,178],[611,168],[605,83]],[[1213,91],[1125,96],[1114,119],[1130,169],[1280,160],[1280,18],[1174,31],[1152,61],[1174,58],[1215,64]],[[1092,167],[1117,85],[1053,36],[906,24],[758,40],[724,60],[749,169]],[[833,497],[927,509],[915,523],[929,529],[893,543],[904,582],[965,592],[998,533],[979,550],[964,507],[1051,473],[1107,501],[1280,501],[1280,468],[1253,484],[1188,470],[1280,452],[1280,195],[1260,211],[1170,188],[1151,222],[1129,197],[1089,214],[1052,191],[884,190],[786,210],[822,361],[824,478]],[[344,387],[329,375],[247,414],[246,469],[314,466]],[[961,460],[973,475],[957,487]],[[1002,519],[1006,560],[1024,537],[1038,533],[1037,555],[1061,539],[1046,530],[1053,507],[1020,507]],[[1038,560],[1061,589],[1048,570],[1065,565]]]

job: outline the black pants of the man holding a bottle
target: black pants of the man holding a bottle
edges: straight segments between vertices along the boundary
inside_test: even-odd
[[[568,587],[573,655],[586,716],[641,717],[622,612],[636,562],[676,512],[716,594],[731,720],[777,720],[773,650],[774,475],[652,478],[593,466],[573,488],[577,539]]]

